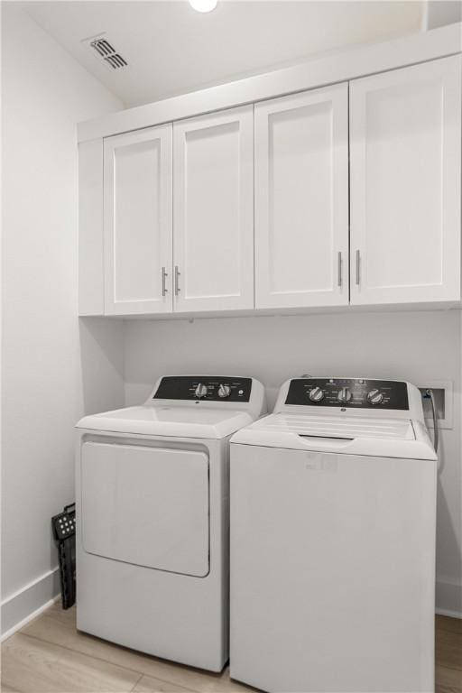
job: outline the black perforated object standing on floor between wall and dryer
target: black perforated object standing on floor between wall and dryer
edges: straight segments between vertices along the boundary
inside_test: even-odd
[[[53,536],[60,557],[61,602],[69,609],[76,601],[76,504],[66,505],[51,518]]]

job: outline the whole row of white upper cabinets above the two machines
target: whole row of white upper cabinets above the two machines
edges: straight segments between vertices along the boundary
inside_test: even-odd
[[[188,119],[208,92],[171,99],[152,122],[173,124],[80,143],[80,314],[460,304],[462,55],[425,54]],[[231,103],[295,83],[239,84]]]

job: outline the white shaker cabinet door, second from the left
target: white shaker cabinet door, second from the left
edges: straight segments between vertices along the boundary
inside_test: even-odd
[[[254,106],[173,125],[174,310],[254,307]]]

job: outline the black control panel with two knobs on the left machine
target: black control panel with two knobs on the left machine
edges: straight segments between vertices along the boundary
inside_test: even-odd
[[[153,400],[205,400],[207,402],[249,402],[252,378],[229,375],[173,375],[162,378]]]

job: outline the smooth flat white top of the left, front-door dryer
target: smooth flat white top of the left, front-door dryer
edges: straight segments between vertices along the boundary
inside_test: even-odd
[[[252,421],[253,417],[246,411],[144,404],[85,416],[77,428],[143,436],[221,439]]]

